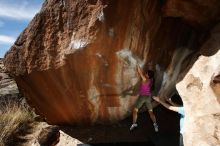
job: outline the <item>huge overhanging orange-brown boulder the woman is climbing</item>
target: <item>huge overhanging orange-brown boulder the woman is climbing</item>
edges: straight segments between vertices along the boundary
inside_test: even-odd
[[[150,62],[156,91],[172,95],[209,38],[207,30],[219,20],[218,11],[210,11],[219,2],[206,9],[212,25],[191,25],[186,9],[183,15],[168,13],[174,2],[47,0],[4,64],[49,123],[120,121],[131,114],[137,99],[131,95],[138,83],[136,64],[146,67]]]

